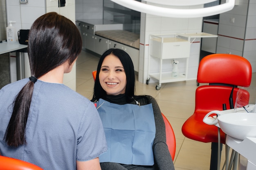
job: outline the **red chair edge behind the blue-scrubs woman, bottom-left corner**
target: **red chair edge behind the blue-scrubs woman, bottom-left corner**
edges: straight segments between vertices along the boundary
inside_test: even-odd
[[[0,156],[0,170],[43,170],[43,169],[40,168],[39,166],[36,166],[26,161]]]

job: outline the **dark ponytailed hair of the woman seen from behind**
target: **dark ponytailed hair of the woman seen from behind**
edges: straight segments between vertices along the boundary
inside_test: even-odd
[[[71,65],[82,49],[82,40],[75,24],[58,13],[51,12],[35,20],[29,31],[28,55],[31,76],[40,78],[69,61]],[[25,127],[34,83],[29,81],[13,102],[13,112],[5,132],[9,146],[26,143]]]

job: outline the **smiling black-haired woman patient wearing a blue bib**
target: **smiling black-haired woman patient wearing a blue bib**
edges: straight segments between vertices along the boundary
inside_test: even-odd
[[[97,103],[108,151],[100,155],[102,170],[173,170],[165,125],[156,100],[135,96],[130,56],[109,49],[100,58],[92,100]]]

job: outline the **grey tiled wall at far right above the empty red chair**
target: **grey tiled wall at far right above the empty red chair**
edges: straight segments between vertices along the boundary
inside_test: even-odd
[[[253,40],[256,39],[255,9],[256,0],[239,0],[239,5],[235,6],[234,9],[228,11],[227,13],[220,14],[219,34],[236,37],[239,39],[229,39],[227,37],[219,36],[217,53],[230,52],[231,54],[236,54],[248,58],[248,60],[256,58],[256,44],[255,40]],[[230,17],[235,18],[234,23],[229,22]],[[231,26],[230,29],[229,26]],[[228,39],[230,43],[228,43]],[[255,61],[251,61],[251,65],[253,72],[255,72]]]

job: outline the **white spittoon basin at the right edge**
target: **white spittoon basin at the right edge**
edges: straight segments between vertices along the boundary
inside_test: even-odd
[[[256,113],[227,113],[218,116],[220,128],[227,135],[245,139],[256,137]]]

